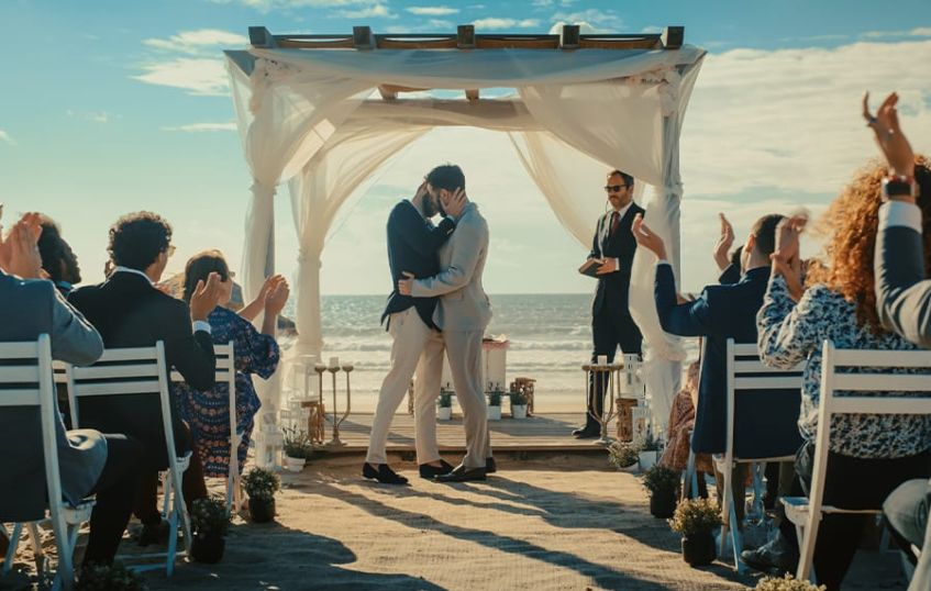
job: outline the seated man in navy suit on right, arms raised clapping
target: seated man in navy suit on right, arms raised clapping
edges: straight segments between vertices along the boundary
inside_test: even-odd
[[[775,247],[776,224],[782,219],[778,214],[764,215],[753,225],[742,250],[742,263],[746,270],[740,281],[707,286],[698,299],[678,304],[676,280],[673,267],[666,260],[663,239],[643,223],[642,216],[634,219],[633,234],[636,242],[652,250],[658,259],[654,297],[660,324],[667,333],[705,337],[698,408],[691,437],[691,448],[696,454],[725,451],[728,416],[724,375],[728,339],[733,338],[736,343],[756,341],[756,312],[763,304],[763,293],[769,280],[769,255]],[[733,475],[736,516],[740,521],[743,518],[746,465],[739,464]],[[719,487],[722,487],[720,480]],[[719,499],[721,497],[718,495]]]

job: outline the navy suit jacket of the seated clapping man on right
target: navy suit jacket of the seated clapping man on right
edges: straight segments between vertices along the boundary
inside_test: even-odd
[[[749,270],[736,283],[708,286],[697,300],[677,304],[673,268],[656,266],[654,298],[663,330],[679,336],[705,337],[691,439],[696,453],[724,451],[728,338],[756,343],[756,313],[763,306],[768,282],[769,268],[760,267]],[[746,426],[743,416],[750,415],[747,420],[752,420],[754,414],[741,413],[742,421],[736,425]],[[735,442],[739,435],[735,433]]]

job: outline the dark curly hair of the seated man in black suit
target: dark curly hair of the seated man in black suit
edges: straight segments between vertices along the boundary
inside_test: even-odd
[[[157,213],[137,211],[110,226],[110,258],[120,267],[145,270],[171,243],[171,226]]]

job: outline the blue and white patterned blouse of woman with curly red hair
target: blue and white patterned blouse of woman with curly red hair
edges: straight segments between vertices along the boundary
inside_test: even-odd
[[[814,442],[821,386],[821,347],[831,341],[841,349],[915,350],[918,347],[895,333],[876,335],[856,322],[856,309],[823,285],[805,291],[796,304],[786,281],[774,276],[756,316],[761,359],[790,368],[802,360],[802,437]],[[897,372],[905,372],[901,369]],[[921,371],[921,370],[919,370]],[[931,392],[929,392],[931,394]],[[877,395],[883,395],[877,392]],[[931,416],[895,414],[835,415],[831,424],[831,451],[857,458],[899,458],[931,447]]]

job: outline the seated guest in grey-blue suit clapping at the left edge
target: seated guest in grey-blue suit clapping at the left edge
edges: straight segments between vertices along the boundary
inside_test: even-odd
[[[0,341],[34,341],[47,334],[52,357],[77,365],[92,364],[103,352],[103,342],[93,327],[38,278],[42,259],[35,244],[40,220],[25,215],[5,241],[0,238]],[[0,390],[0,397],[3,395]],[[141,445],[124,435],[103,435],[93,430],[65,431],[56,415],[58,467],[62,492],[77,505],[90,494],[97,504],[90,517],[90,538],[85,565],[110,564],[130,521],[136,488],[136,462]],[[34,411],[4,408],[0,432],[7,441],[41,441]],[[42,447],[7,449],[0,470],[0,521],[42,518],[47,506]]]

